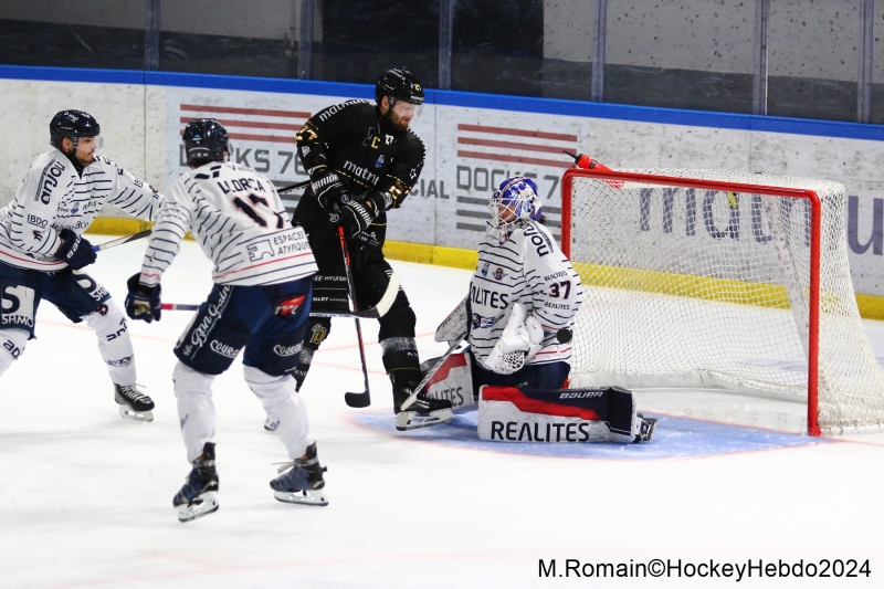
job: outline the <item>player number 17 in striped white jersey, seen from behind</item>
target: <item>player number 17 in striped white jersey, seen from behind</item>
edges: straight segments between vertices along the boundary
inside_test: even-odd
[[[316,262],[304,230],[273,183],[227,162],[228,134],[214,119],[191,120],[183,136],[191,171],[168,191],[141,272],[128,281],[126,313],[161,316],[160,278],[190,231],[214,263],[214,286],[175,347],[172,374],[187,460],[193,469],[172,504],[189,522],[218,509],[212,381],[244,348],[245,381],[261,400],[292,462],[271,481],[282,502],[327,505],[316,443],[293,377],[311,306]],[[290,470],[291,469],[291,470]]]

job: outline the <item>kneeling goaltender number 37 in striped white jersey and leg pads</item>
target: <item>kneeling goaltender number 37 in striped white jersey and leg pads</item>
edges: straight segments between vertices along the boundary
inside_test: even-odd
[[[655,420],[636,413],[631,391],[564,390],[583,287],[543,224],[534,181],[504,180],[490,208],[470,294],[435,336],[452,350],[467,337],[469,351],[430,360],[438,367],[424,377],[427,396],[448,398],[455,410],[477,404],[485,440],[650,440]]]

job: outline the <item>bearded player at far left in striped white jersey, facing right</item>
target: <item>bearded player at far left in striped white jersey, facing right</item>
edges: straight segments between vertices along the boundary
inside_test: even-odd
[[[38,305],[48,301],[95,332],[120,414],[151,421],[154,401],[136,387],[126,317],[82,270],[96,259],[82,233],[106,202],[152,221],[161,197],[95,154],[99,133],[87,113],[57,113],[50,122],[54,149],[36,158],[12,202],[0,209],[0,375],[34,338]]]

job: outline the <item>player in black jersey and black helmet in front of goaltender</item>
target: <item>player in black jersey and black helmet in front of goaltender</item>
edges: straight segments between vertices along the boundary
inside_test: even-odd
[[[354,99],[329,106],[312,116],[298,133],[298,157],[309,173],[311,187],[298,202],[293,223],[307,231],[319,266],[313,311],[347,312],[338,227],[347,236],[358,307],[375,306],[390,283],[392,269],[382,250],[387,213],[402,207],[423,168],[423,143],[409,128],[420,115],[423,97],[413,74],[389,70],[378,80],[375,104]],[[324,308],[325,296],[330,303]],[[402,401],[421,379],[415,317],[403,290],[379,323],[383,367],[392,381],[393,411],[399,414]],[[295,372],[298,387],[330,327],[328,317],[311,315]],[[450,407],[444,400],[419,397],[409,408],[414,414],[408,429],[450,421]],[[265,427],[271,429],[270,423]]]

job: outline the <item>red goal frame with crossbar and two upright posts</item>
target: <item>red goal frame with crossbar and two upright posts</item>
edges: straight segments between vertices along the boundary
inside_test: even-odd
[[[609,180],[619,182],[641,182],[662,185],[677,188],[698,188],[702,190],[718,190],[743,192],[749,194],[766,194],[771,197],[786,197],[802,199],[810,202],[810,301],[808,303],[808,434],[820,435],[819,416],[819,335],[820,335],[820,242],[822,227],[822,203],[813,190],[799,188],[779,188],[772,186],[744,185],[738,182],[723,182],[712,180],[696,180],[691,178],[674,178],[671,176],[654,176],[650,173],[633,173],[601,169],[569,168],[561,177],[561,251],[571,257],[571,187],[575,178],[592,178],[594,180]]]

